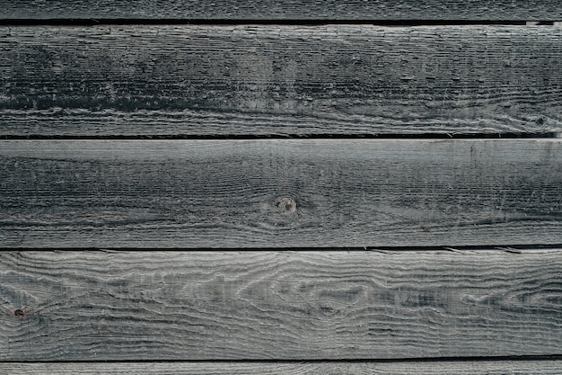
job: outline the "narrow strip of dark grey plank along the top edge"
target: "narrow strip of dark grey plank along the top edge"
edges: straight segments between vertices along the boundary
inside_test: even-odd
[[[4,19],[559,21],[556,0],[31,0],[3,1]]]

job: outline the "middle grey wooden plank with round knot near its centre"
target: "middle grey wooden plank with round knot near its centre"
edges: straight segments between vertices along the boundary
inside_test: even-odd
[[[559,244],[562,139],[0,141],[0,246]]]

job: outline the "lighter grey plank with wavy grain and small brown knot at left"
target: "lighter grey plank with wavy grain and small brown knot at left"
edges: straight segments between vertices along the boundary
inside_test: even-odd
[[[562,252],[2,252],[0,359],[562,353]]]

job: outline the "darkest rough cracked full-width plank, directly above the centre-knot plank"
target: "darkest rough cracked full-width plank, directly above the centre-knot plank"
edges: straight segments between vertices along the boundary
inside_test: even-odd
[[[560,30],[6,26],[0,136],[560,131]]]

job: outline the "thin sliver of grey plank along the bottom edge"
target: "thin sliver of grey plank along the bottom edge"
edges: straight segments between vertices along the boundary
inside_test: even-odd
[[[562,361],[0,363],[19,375],[559,375]]]

